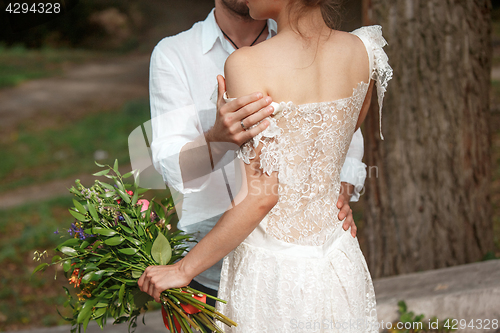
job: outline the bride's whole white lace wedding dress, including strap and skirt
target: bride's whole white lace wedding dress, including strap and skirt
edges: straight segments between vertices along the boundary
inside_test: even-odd
[[[381,27],[352,34],[366,46],[381,114],[392,77]],[[227,305],[217,307],[238,323],[226,332],[378,332],[370,273],[336,206],[368,86],[332,102],[275,104],[270,126],[237,151],[248,164],[263,144],[261,168],[278,171],[279,201],[224,259],[219,297]]]

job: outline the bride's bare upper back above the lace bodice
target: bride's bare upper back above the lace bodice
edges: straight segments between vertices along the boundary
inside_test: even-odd
[[[312,39],[283,32],[237,53],[228,59],[226,68],[242,67],[231,70],[241,70],[240,80],[245,77],[242,95],[261,91],[275,102],[326,102],[349,97],[359,82],[369,82],[363,42],[343,31],[331,30]]]

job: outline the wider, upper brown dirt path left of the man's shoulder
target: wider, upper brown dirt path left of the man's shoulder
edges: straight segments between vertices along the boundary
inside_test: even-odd
[[[134,55],[84,64],[60,77],[0,90],[0,131],[40,113],[74,115],[112,109],[148,94],[149,56]]]

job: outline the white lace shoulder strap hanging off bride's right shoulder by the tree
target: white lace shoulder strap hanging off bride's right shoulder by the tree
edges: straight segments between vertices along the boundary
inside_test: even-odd
[[[380,25],[361,27],[351,33],[363,41],[368,53],[370,79],[375,80],[377,85],[380,139],[384,140],[384,136],[382,135],[382,102],[387,90],[387,83],[392,79],[392,68],[389,65],[389,58],[383,50],[383,47],[387,45],[387,41],[382,36],[382,27]]]

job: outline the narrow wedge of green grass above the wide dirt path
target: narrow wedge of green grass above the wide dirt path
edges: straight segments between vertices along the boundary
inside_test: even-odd
[[[22,46],[6,48],[0,45],[0,88],[14,87],[27,80],[58,75],[70,65],[104,57],[104,53],[84,50],[28,50]]]

